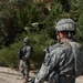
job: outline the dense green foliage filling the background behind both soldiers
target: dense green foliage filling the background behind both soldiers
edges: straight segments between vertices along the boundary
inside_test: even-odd
[[[22,39],[29,37],[30,44],[34,49],[31,62],[40,66],[44,58],[43,50],[50,45],[52,39],[55,39],[54,27],[62,18],[71,18],[76,22],[77,32],[74,40],[83,43],[83,0],[53,0],[51,10],[46,14],[43,2],[32,3],[32,1],[0,0],[0,63],[2,65],[15,66],[17,52],[22,45]]]

